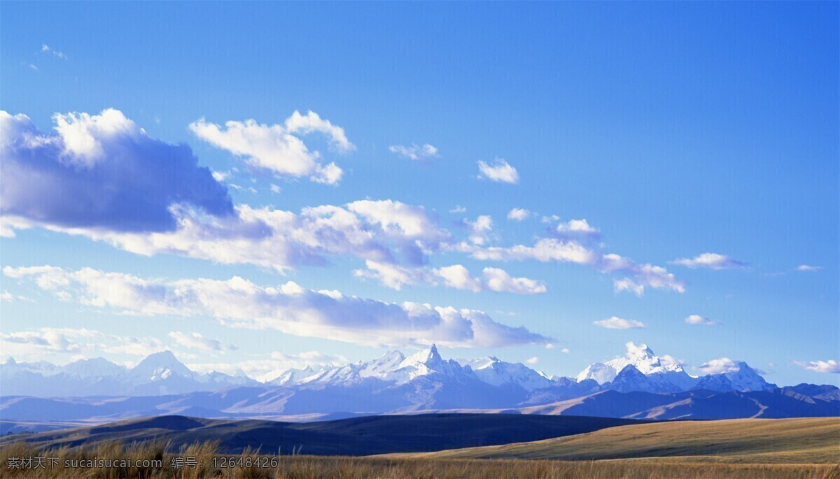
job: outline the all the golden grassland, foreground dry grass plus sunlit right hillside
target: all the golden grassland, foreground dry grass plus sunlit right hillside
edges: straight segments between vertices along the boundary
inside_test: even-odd
[[[389,456],[224,455],[218,443],[173,451],[164,441],[98,443],[43,450],[0,448],[0,476],[20,478],[818,478],[840,479],[840,419],[735,419],[617,426],[512,445]],[[53,457],[46,469],[12,468],[21,458]],[[196,467],[177,468],[176,458]],[[66,468],[66,461],[132,458],[116,467]],[[230,461],[229,458],[234,458]],[[257,464],[268,463],[260,467]],[[265,461],[271,458],[274,462]],[[593,459],[594,458],[594,459]],[[160,461],[137,466],[136,460]],[[248,466],[248,464],[251,464]]]

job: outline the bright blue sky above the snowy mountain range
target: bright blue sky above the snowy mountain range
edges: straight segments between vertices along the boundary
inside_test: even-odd
[[[29,118],[9,117],[4,125],[24,129],[8,127],[17,133],[4,131],[3,141],[24,138],[25,130],[54,142],[32,151],[52,162],[44,168],[57,171],[59,182],[21,187],[42,176],[18,173],[13,155],[4,154],[0,207],[4,219],[24,227],[0,239],[0,262],[11,268],[2,278],[10,299],[0,306],[3,357],[131,362],[171,347],[192,364],[244,364],[272,353],[299,364],[306,359],[296,355],[307,351],[323,360],[356,360],[435,339],[448,345],[444,356],[536,357],[539,369],[573,375],[636,341],[685,361],[690,372],[729,357],[769,372],[771,382],[837,383],[835,374],[803,367],[840,359],[837,3],[4,3],[2,9],[0,109]],[[120,112],[106,118],[108,125],[129,133],[88,128],[96,117],[66,116],[108,108]],[[290,127],[286,119],[296,111],[316,131]],[[71,125],[64,136],[53,130],[55,113]],[[290,174],[297,161],[291,154],[266,151],[265,137],[234,138],[225,125],[241,122],[247,130],[250,119],[257,129],[278,125],[260,134],[274,146],[291,135],[290,144],[305,144],[307,158],[320,166]],[[105,145],[104,160],[90,144],[67,146],[79,128],[88,128],[91,144]],[[19,153],[24,147],[16,144]],[[197,165],[172,144],[187,145]],[[424,144],[437,154],[413,160],[389,148]],[[96,173],[113,151],[134,155],[134,169]],[[503,174],[499,181],[478,178],[479,162],[494,166],[497,159],[516,170],[516,182],[503,181],[511,180]],[[333,162],[343,171],[340,180],[318,183],[325,181],[318,168]],[[169,171],[169,164],[181,166]],[[217,185],[201,167],[229,176]],[[74,181],[78,190],[58,187]],[[218,197],[204,195],[217,186]],[[124,197],[106,193],[115,188]],[[90,198],[80,200],[80,191],[91,191]],[[148,201],[138,203],[144,195]],[[145,254],[138,254],[139,242],[155,232],[182,233],[172,226],[180,216],[165,209],[158,212],[167,221],[141,221],[126,239],[122,220],[175,199],[195,210],[189,217],[208,221],[202,225],[217,221],[214,214],[227,218],[206,232],[215,235],[205,237],[219,248],[215,253],[191,258],[189,247],[171,253],[144,243]],[[355,203],[361,200],[372,203]],[[55,209],[46,211],[52,206],[45,203]],[[230,213],[232,206],[240,212]],[[265,234],[256,232],[262,220],[231,219],[245,206],[297,217],[305,208],[338,206],[393,253],[377,263],[402,268],[411,279],[394,289],[371,278],[365,261],[373,253],[348,252],[338,240],[333,253],[318,245],[318,258],[308,261],[276,258],[269,243],[254,242]],[[365,208],[368,216],[360,213]],[[530,215],[508,219],[513,208]],[[421,231],[408,234],[401,226],[407,211],[423,216]],[[80,216],[101,221],[82,224]],[[396,222],[383,226],[385,216]],[[467,222],[478,224],[479,216],[491,217],[489,230]],[[597,232],[570,223],[584,219]],[[282,235],[304,234],[298,226],[283,226]],[[280,226],[272,227],[279,237]],[[339,233],[347,230],[331,229],[318,241]],[[244,239],[237,247],[220,242],[231,237]],[[585,258],[540,261],[534,247],[541,240],[564,254],[585,251]],[[312,243],[270,244],[286,253],[314,251]],[[522,253],[517,245],[531,249]],[[490,252],[504,258],[488,258]],[[678,262],[703,253],[726,258],[705,257],[710,261],[689,263],[694,268]],[[633,264],[618,268],[607,254]],[[259,264],[248,259],[255,257]],[[281,272],[271,266],[277,264],[291,267]],[[673,274],[670,285],[640,269],[648,264]],[[61,269],[19,269],[44,265]],[[454,265],[470,272],[459,287],[454,270],[441,270]],[[97,296],[82,268],[144,279],[154,286],[146,293],[170,296],[154,311]],[[498,273],[485,268],[501,269],[510,280],[491,286]],[[263,293],[293,281],[344,298],[480,310],[494,325],[527,331],[469,339],[475,331],[464,328],[478,323],[462,314],[434,333],[417,332],[425,326],[412,323],[419,329],[407,339],[394,331],[405,325],[392,328],[393,318],[375,328],[365,323],[370,310],[360,305],[347,305],[355,312],[335,323],[310,318],[301,320],[304,326],[278,325],[287,318],[274,313],[264,321],[231,318],[218,304],[189,312],[189,305],[171,301],[177,280],[192,281],[181,284],[189,289],[197,279],[234,276]],[[48,278],[69,283],[45,288]],[[617,290],[625,278],[630,290]],[[112,290],[118,281],[126,279],[105,281],[113,282],[109,294],[118,295]],[[640,286],[643,293],[634,294]],[[313,298],[320,305],[323,294]],[[690,315],[720,324],[686,324]],[[594,324],[612,317],[645,327]],[[373,329],[330,332],[327,323]],[[95,334],[81,335],[80,328],[104,336],[91,339]],[[198,333],[201,344],[176,341],[172,331]],[[29,342],[18,341],[23,337]],[[9,346],[12,340],[18,346]],[[114,346],[105,351],[106,343]]]

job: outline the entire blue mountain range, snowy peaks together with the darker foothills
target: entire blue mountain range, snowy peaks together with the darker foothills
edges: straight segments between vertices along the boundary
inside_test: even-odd
[[[101,358],[66,366],[9,360],[0,364],[0,414],[103,421],[159,414],[312,419],[432,410],[651,419],[840,415],[840,390],[834,386],[776,388],[745,362],[693,377],[679,363],[633,343],[627,356],[586,367],[576,378],[549,377],[497,357],[444,359],[435,346],[409,357],[390,351],[371,361],[271,377],[259,383],[242,372],[199,374],[170,351],[132,368]]]

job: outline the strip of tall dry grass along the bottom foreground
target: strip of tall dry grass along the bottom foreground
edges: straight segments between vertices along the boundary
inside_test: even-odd
[[[48,456],[56,466],[45,469],[10,468],[20,458]],[[195,469],[176,468],[173,459],[192,457]],[[213,444],[192,445],[177,454],[166,452],[165,444],[98,445],[95,448],[60,449],[43,452],[24,443],[0,449],[0,476],[15,478],[626,478],[626,479],[840,479],[837,464],[732,464],[684,461],[523,461],[498,459],[433,459],[386,457],[281,456],[269,458],[245,452],[233,456],[234,466],[222,467],[231,456],[219,456]],[[96,459],[160,461],[157,466],[116,466],[66,468],[66,461]],[[249,460],[276,465],[242,466]]]

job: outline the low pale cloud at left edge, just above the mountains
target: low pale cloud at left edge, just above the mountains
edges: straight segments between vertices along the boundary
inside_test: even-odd
[[[148,356],[165,349],[151,337],[117,336],[87,328],[38,328],[0,333],[0,349],[12,357],[43,357],[47,354],[123,354]]]

